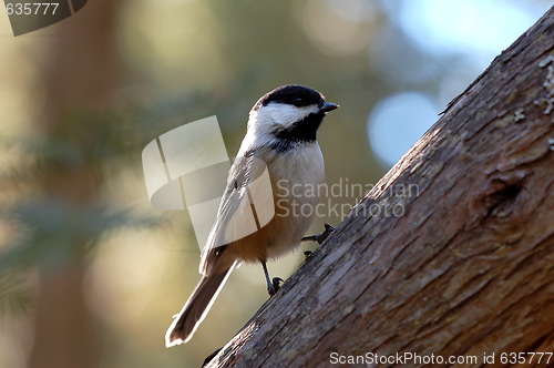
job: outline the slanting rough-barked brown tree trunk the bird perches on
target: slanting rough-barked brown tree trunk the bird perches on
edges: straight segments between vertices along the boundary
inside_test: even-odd
[[[468,366],[494,354],[505,366],[513,356],[503,352],[553,352],[553,151],[554,8],[449,104],[209,367],[324,367],[332,352],[476,357]],[[394,206],[403,213],[377,214]]]

